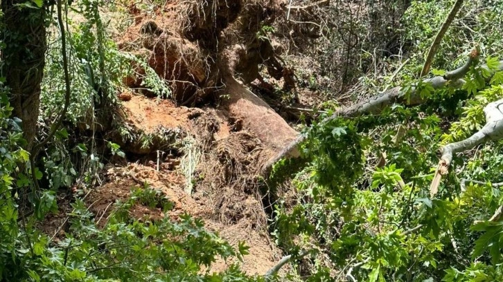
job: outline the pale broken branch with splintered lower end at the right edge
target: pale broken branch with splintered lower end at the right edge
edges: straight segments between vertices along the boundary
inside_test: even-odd
[[[487,104],[484,108],[486,125],[482,129],[465,140],[447,144],[441,149],[442,156],[432,180],[430,196],[434,197],[438,193],[441,178],[449,172],[449,164],[455,153],[466,151],[488,140],[503,139],[503,113],[501,109],[503,109],[503,99]]]

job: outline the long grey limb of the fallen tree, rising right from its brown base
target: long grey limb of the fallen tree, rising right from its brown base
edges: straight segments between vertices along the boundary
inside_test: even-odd
[[[450,71],[443,76],[436,76],[428,79],[424,79],[423,83],[431,84],[433,88],[439,89],[447,86],[453,86],[455,88],[461,88],[465,81],[461,79],[464,77],[466,73],[470,70],[470,66],[477,64],[479,61],[479,51],[478,48],[475,48],[470,55],[468,55],[468,59],[464,66],[461,66],[454,71]],[[482,66],[484,67],[484,66]],[[503,70],[503,61],[500,62],[500,70]],[[490,71],[490,70],[488,70]],[[364,100],[360,103],[354,104],[353,106],[349,106],[344,109],[339,109],[335,111],[333,115],[326,118],[324,122],[328,122],[330,120],[334,120],[335,118],[344,117],[344,118],[352,118],[359,115],[365,114],[379,114],[388,106],[392,104],[399,103],[404,104],[406,106],[417,106],[419,104],[423,104],[427,101],[425,97],[421,97],[419,91],[416,91],[416,88],[413,88],[411,93],[409,93],[409,97],[407,99],[405,95],[405,91],[403,88],[395,87],[391,88],[384,93],[379,95],[370,97],[368,100]],[[304,135],[299,135],[299,137],[288,144],[285,149],[283,149],[279,154],[271,158],[263,167],[262,173],[267,176],[272,169],[272,165],[281,160],[282,158],[298,158],[300,156],[298,146],[303,140],[306,138]]]

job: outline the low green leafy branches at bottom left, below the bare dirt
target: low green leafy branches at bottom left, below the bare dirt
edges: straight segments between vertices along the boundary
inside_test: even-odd
[[[23,263],[15,261],[10,268],[1,267],[1,277],[30,281],[260,280],[247,278],[235,265],[220,274],[203,272],[202,265],[208,267],[217,256],[240,258],[247,247],[240,243],[236,252],[207,232],[200,220],[182,216],[179,223],[173,223],[168,216],[157,222],[130,218],[129,209],[148,195],[152,194],[136,191],[127,202],[116,203],[101,227],[85,204],[76,200],[66,237],[53,242],[31,230],[26,236],[33,245],[26,241],[15,249]],[[28,249],[23,250],[23,245]]]

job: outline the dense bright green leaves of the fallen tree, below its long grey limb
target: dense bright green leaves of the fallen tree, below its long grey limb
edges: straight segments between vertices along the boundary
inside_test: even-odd
[[[308,165],[294,177],[297,205],[279,202],[272,226],[276,242],[287,250],[315,245],[325,254],[310,265],[312,281],[326,275],[322,265],[341,275],[354,267],[351,275],[358,281],[502,279],[503,225],[488,222],[503,203],[500,187],[457,187],[460,178],[502,180],[503,144],[455,156],[456,173],[444,180],[438,198],[429,195],[436,149],[481,129],[484,106],[503,97],[490,73],[499,60],[488,57],[486,63],[468,72],[462,91],[406,84],[440,104],[464,93],[468,99],[450,129],[442,127],[446,117],[433,106],[392,106],[378,117],[336,119],[308,130],[302,147]],[[385,165],[376,167],[380,158]],[[281,165],[276,171],[281,173]]]

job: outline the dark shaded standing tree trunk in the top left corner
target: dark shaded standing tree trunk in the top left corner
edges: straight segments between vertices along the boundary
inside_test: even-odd
[[[33,148],[37,132],[40,84],[44,76],[46,52],[46,10],[20,8],[26,0],[3,0],[2,75],[10,88],[13,115],[22,120],[25,149]]]

